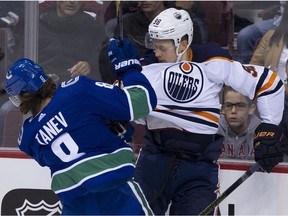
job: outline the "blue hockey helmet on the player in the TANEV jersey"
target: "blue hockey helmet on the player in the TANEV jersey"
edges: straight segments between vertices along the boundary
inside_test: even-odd
[[[11,66],[6,74],[5,90],[11,96],[19,95],[22,91],[37,92],[48,80],[40,65],[30,59],[19,59]]]

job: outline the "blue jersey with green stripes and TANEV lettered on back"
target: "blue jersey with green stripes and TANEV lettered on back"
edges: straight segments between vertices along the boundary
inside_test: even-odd
[[[156,95],[140,72],[124,74],[123,82],[120,89],[75,77],[24,122],[19,148],[51,169],[52,190],[61,200],[109,190],[133,177],[133,151],[105,120],[141,118],[156,106]]]

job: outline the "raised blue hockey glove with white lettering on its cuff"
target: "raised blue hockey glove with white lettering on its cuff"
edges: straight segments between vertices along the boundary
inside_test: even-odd
[[[131,68],[134,68],[138,71],[142,70],[136,49],[126,39],[123,39],[121,45],[116,39],[110,39],[108,56],[110,62],[112,63],[113,71],[117,75],[121,76],[121,74]]]

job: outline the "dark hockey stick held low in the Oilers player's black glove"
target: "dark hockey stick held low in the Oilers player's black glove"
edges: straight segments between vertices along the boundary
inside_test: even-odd
[[[230,193],[238,188],[246,179],[248,179],[254,172],[260,169],[259,163],[251,166],[240,178],[238,178],[229,188],[227,188],[217,199],[208,205],[199,215],[209,214],[217,205],[219,205]]]

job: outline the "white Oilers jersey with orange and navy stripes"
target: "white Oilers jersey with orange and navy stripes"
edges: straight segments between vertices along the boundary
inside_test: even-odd
[[[157,94],[157,107],[146,117],[149,129],[178,128],[215,134],[223,84],[258,101],[264,122],[279,124],[284,109],[283,83],[276,73],[255,65],[212,59],[204,63],[157,63],[142,73]]]

